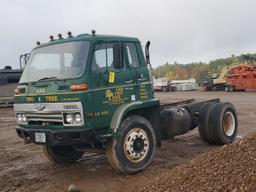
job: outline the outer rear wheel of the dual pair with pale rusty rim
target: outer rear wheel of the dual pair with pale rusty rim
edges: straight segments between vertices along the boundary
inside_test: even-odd
[[[212,108],[210,129],[217,145],[225,145],[235,140],[238,121],[235,107],[231,103],[218,103]]]

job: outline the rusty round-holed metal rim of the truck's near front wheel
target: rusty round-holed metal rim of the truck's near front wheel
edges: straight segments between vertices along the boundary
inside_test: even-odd
[[[132,129],[125,137],[124,152],[132,162],[142,161],[148,154],[149,140],[147,133],[141,128]]]

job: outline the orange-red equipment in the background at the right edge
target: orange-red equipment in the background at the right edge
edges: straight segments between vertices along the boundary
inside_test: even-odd
[[[243,64],[230,69],[225,77],[227,91],[256,90],[256,65]]]

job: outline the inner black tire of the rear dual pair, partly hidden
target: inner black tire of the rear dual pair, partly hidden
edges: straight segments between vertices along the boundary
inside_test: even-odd
[[[213,133],[209,125],[210,114],[216,103],[205,103],[200,109],[198,131],[201,139],[208,144],[215,144]]]

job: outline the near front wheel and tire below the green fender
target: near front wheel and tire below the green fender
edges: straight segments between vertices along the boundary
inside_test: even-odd
[[[151,163],[155,149],[152,125],[144,117],[133,115],[121,123],[117,135],[107,142],[106,153],[113,169],[132,174]]]

